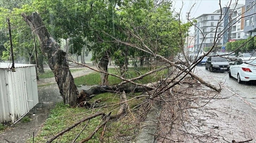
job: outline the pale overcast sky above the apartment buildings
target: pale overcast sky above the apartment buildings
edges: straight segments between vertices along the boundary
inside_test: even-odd
[[[225,5],[229,5],[235,3],[236,0],[220,0],[221,7],[225,7]],[[196,18],[201,14],[209,14],[213,13],[217,9],[220,9],[219,0],[173,0],[173,8],[175,8],[175,12],[179,12],[182,7],[182,21],[187,22],[186,13],[190,11],[190,19]],[[195,4],[195,5],[194,5]],[[238,0],[238,4],[245,4],[245,0]],[[194,5],[193,8],[191,8]]]

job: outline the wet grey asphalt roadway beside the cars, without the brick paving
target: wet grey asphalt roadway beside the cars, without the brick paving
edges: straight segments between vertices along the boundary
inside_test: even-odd
[[[233,91],[233,93],[236,93],[242,100],[245,102],[248,101],[248,104],[251,104],[252,108],[256,109],[256,82],[244,82],[239,84],[236,79],[228,77],[227,72],[212,73],[206,70],[204,66],[196,66],[194,73],[211,84],[221,84],[223,88]]]

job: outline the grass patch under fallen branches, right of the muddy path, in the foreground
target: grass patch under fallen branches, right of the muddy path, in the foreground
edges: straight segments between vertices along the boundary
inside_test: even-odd
[[[49,117],[47,118],[44,126],[39,131],[38,135],[35,137],[36,143],[46,142],[49,138],[53,137],[66,127],[72,125],[78,120],[90,115],[92,112],[86,112],[88,109],[85,108],[70,108],[68,104],[64,105],[63,103],[57,103],[56,107],[51,110]],[[96,111],[94,111],[96,112]],[[77,136],[80,130],[85,126],[87,122],[81,123],[77,127],[71,129],[69,132],[64,134],[63,136],[55,139],[53,143],[70,143]],[[83,134],[79,136],[77,141],[87,137],[93,129],[97,127],[98,124],[101,123],[100,116],[93,118],[90,120],[90,124],[87,126],[86,130],[83,131]],[[98,132],[97,136],[99,136],[100,132]],[[32,138],[26,141],[27,143],[32,142]],[[96,136],[92,138],[89,143],[97,142]]]

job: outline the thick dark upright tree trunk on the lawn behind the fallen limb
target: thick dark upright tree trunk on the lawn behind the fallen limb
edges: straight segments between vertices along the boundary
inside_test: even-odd
[[[108,63],[109,63],[108,55],[105,53],[105,55],[100,59],[100,62],[98,64],[99,70],[108,72]],[[102,85],[108,84],[108,74],[101,73],[100,77],[101,77]]]

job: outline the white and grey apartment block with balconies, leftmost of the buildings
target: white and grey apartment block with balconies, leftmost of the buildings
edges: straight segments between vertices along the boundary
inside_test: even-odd
[[[226,45],[228,40],[231,40],[232,36],[228,37],[229,15],[235,7],[241,6],[243,6],[243,4],[232,4],[230,7],[223,7],[211,14],[202,14],[195,18],[197,20],[197,25],[194,28],[195,53],[202,53],[205,47],[213,46],[215,37],[217,38],[220,34],[222,34],[222,37],[218,39],[217,45]],[[220,19],[221,22],[217,29],[217,24]]]

